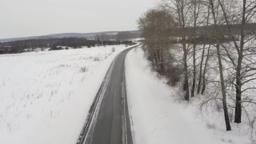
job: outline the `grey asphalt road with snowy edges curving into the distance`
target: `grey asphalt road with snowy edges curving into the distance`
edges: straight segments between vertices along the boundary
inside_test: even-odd
[[[132,48],[109,67],[77,144],[133,144],[125,82],[125,56]]]

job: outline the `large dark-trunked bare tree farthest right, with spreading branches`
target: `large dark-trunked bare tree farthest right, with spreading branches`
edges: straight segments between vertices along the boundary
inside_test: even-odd
[[[243,93],[249,90],[256,89],[255,85],[247,85],[253,80],[256,80],[256,63],[251,60],[256,56],[256,48],[252,43],[256,37],[256,29],[250,29],[248,22],[255,19],[256,1],[243,0],[242,3],[236,0],[218,0],[223,12],[224,21],[226,23],[229,37],[232,38],[232,45],[222,45],[229,58],[229,63],[235,71],[235,123],[241,123],[242,103],[248,103],[251,99],[242,99]],[[242,5],[242,8],[240,8]],[[232,27],[234,24],[239,24],[238,27]],[[249,29],[248,29],[249,28]],[[237,36],[238,35],[238,36]],[[233,50],[235,53],[232,54]]]

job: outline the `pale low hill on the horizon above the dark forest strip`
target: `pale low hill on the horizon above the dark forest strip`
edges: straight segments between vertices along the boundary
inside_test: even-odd
[[[15,41],[15,40],[30,40],[30,39],[51,39],[51,38],[62,38],[62,37],[94,37],[96,35],[106,34],[106,35],[116,35],[119,31],[109,31],[109,32],[91,32],[91,33],[61,33],[52,35],[41,35],[32,37],[15,37],[15,38],[5,38],[0,39],[0,42],[5,41]],[[134,34],[140,34],[139,30],[129,31]]]

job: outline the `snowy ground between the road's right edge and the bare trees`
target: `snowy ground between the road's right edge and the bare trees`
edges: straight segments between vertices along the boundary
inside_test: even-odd
[[[204,117],[199,100],[179,103],[175,93],[148,68],[141,49],[128,53],[125,67],[128,100],[136,144],[251,144],[248,131],[232,124],[226,132],[222,112]]]

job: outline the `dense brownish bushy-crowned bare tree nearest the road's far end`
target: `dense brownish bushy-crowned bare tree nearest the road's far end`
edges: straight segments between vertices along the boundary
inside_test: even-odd
[[[160,74],[165,74],[170,57],[170,32],[175,27],[168,11],[152,9],[147,11],[138,21],[139,29],[145,37],[144,50],[149,56],[152,67]]]

